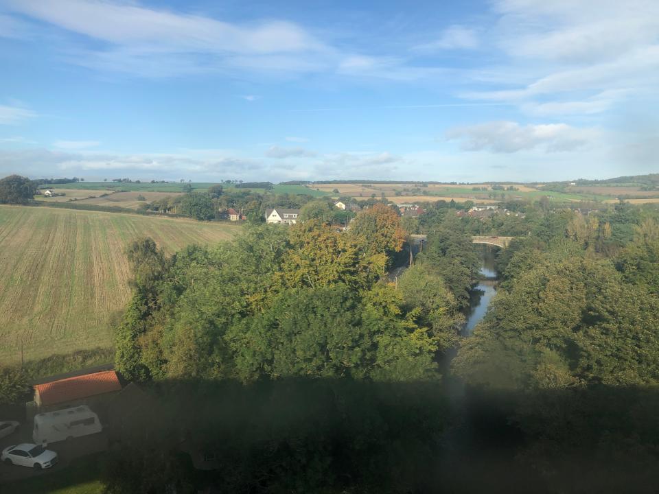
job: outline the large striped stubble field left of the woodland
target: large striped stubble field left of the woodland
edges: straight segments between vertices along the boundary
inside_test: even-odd
[[[240,226],[122,213],[0,206],[0,362],[109,346],[130,298],[129,242],[167,253],[229,239]]]

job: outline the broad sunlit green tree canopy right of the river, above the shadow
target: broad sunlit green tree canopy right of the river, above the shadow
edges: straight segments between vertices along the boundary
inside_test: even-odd
[[[555,388],[659,382],[659,301],[610,261],[539,260],[500,292],[454,368],[473,384]]]

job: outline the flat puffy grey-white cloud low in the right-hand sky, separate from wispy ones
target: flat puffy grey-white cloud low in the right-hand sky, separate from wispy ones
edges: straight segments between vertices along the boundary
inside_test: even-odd
[[[461,148],[465,151],[489,150],[495,153],[534,149],[574,151],[594,143],[599,137],[601,131],[594,128],[575,128],[568,124],[522,126],[514,121],[492,121],[446,132],[446,138],[461,141]]]

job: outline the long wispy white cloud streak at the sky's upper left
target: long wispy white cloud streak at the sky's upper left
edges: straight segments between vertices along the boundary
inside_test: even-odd
[[[290,71],[336,57],[332,47],[288,21],[241,25],[123,1],[5,3],[27,18],[104,43],[93,50],[68,49],[65,56],[70,63],[103,71],[148,77],[236,68]]]

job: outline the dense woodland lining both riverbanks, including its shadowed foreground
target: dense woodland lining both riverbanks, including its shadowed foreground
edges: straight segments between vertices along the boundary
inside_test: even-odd
[[[284,205],[304,222],[172,256],[129,246],[116,367],[152,401],[104,460],[108,493],[656,491],[656,207],[516,201],[479,219],[374,200],[342,231],[326,200]],[[411,233],[428,242],[394,283]],[[466,338],[472,235],[516,239]],[[24,389],[0,373],[3,401]],[[192,469],[182,440],[216,469]]]

